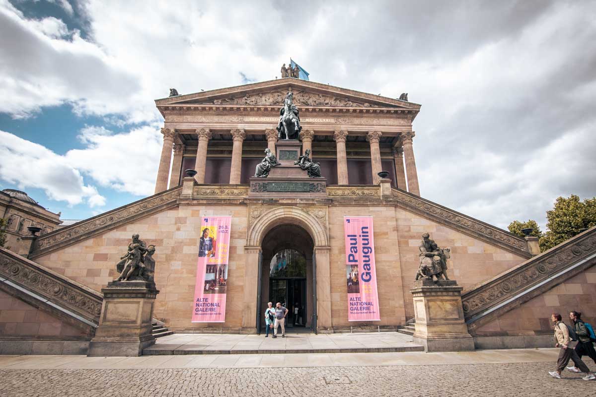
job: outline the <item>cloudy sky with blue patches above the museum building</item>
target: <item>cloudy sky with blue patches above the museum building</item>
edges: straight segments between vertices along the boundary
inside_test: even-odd
[[[421,195],[507,227],[596,195],[596,2],[0,0],[0,188],[82,219],[153,194],[154,99],[274,79],[422,104]]]

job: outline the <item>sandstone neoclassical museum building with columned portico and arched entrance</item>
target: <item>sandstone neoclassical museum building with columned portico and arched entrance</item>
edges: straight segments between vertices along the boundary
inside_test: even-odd
[[[310,149],[321,166],[316,183],[292,170],[293,158],[280,151],[285,142],[275,127],[290,91],[300,111],[299,148]],[[464,317],[477,347],[550,345],[552,311],[596,304],[596,229],[538,255],[532,238],[424,199],[413,145],[418,104],[285,78],[156,105],[164,127],[153,196],[40,236],[30,261],[1,252],[6,263],[55,274],[52,283],[72,295],[19,280],[89,324],[97,322],[98,292],[117,276],[133,233],[156,246],[154,317],[175,332],[258,333],[269,301],[293,310],[296,330],[402,329],[415,316],[410,289],[424,232],[451,248],[448,275],[464,288]],[[287,165],[257,180],[266,148]],[[225,322],[193,323],[201,218],[216,215],[231,216]],[[380,321],[348,321],[346,215],[373,218]],[[218,269],[209,271],[219,278]],[[78,340],[92,335],[89,324]]]

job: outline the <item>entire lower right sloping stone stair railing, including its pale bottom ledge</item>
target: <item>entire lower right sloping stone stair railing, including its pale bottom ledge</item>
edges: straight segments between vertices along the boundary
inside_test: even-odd
[[[461,296],[468,329],[488,323],[596,264],[596,227],[473,287]]]

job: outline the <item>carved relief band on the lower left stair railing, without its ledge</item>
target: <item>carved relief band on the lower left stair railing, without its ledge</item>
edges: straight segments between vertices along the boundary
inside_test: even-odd
[[[37,293],[50,302],[69,308],[93,323],[98,323],[101,312],[101,295],[94,295],[73,287],[67,280],[44,271],[33,262],[14,258],[0,251],[0,274],[17,285]]]

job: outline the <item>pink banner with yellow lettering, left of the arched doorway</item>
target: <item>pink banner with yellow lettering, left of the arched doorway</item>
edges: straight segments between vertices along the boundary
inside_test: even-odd
[[[193,323],[225,321],[231,224],[231,216],[206,216],[201,220]]]

